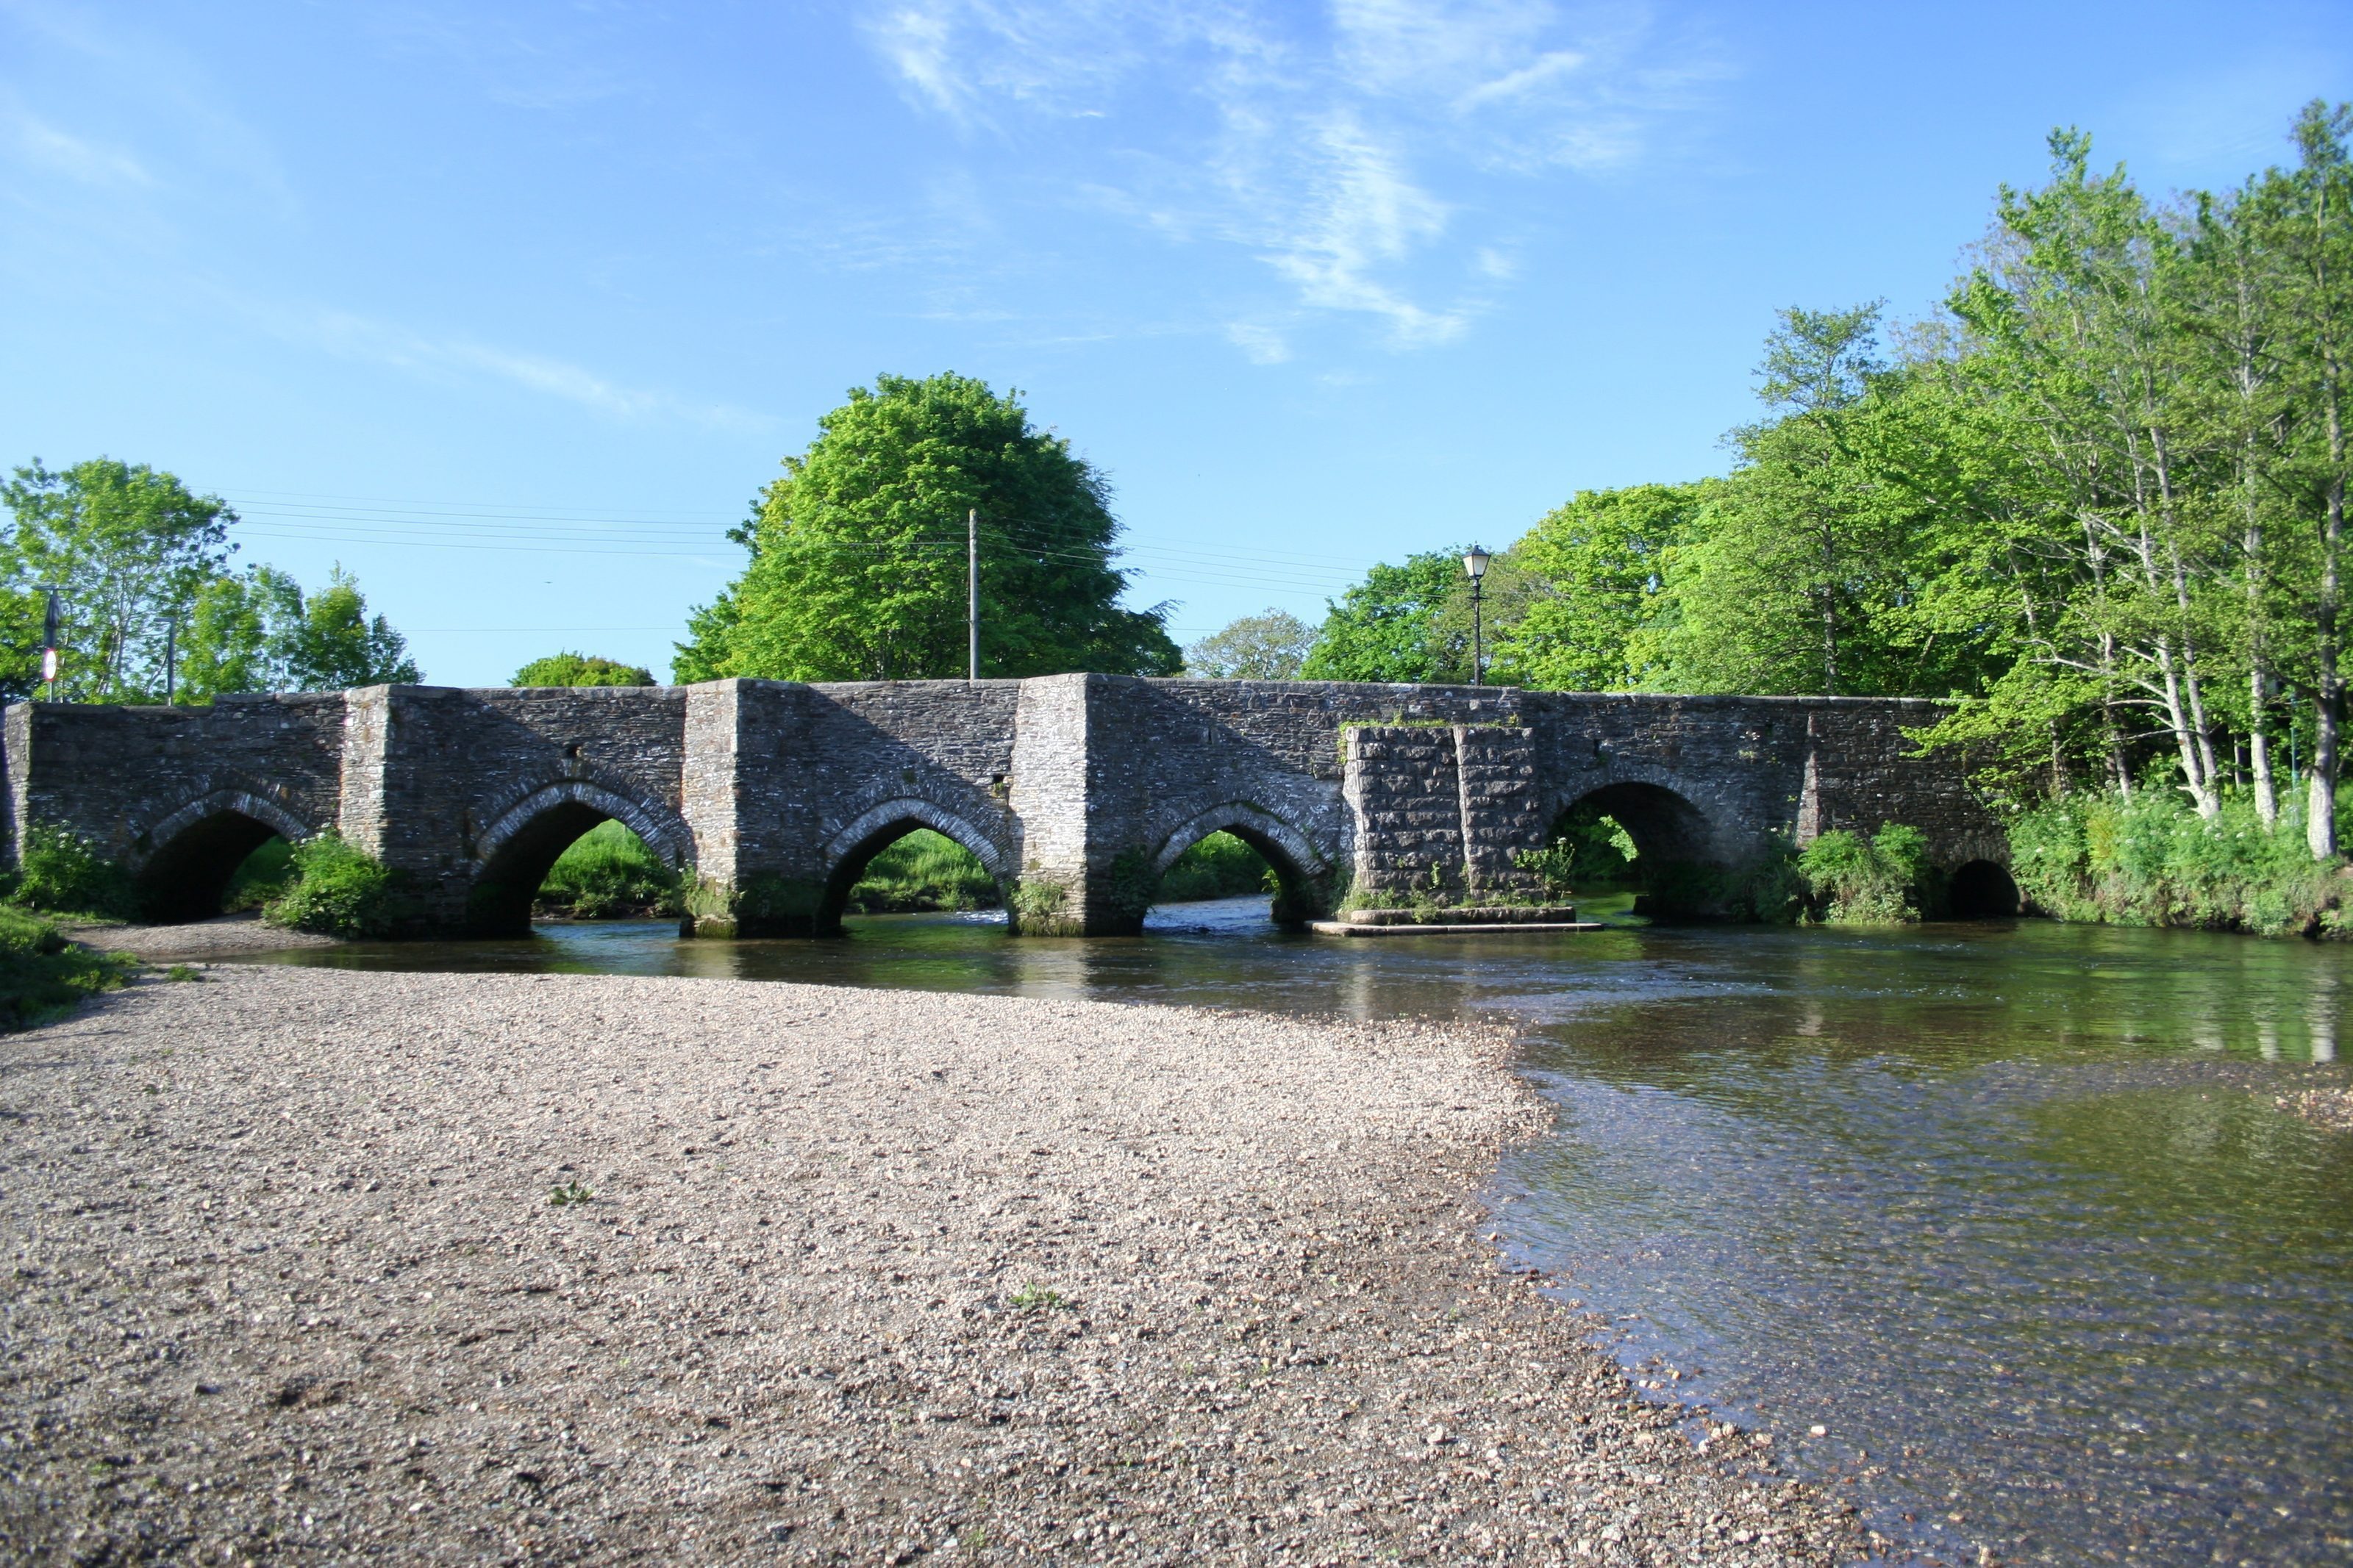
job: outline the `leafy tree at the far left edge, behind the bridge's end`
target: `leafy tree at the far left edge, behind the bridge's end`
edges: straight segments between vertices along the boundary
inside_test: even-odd
[[[89,458],[66,470],[33,458],[0,484],[14,527],[0,550],[0,686],[31,691],[45,618],[40,583],[61,607],[56,696],[71,703],[162,693],[167,625],[228,562],[238,515],[146,463]]]

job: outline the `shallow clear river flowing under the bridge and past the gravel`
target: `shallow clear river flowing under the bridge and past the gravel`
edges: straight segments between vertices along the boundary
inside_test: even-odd
[[[1499,1173],[1504,1239],[1645,1385],[1772,1427],[1929,1561],[2353,1561],[2353,1135],[2273,1107],[2346,1081],[2353,952],[2042,922],[1329,940],[1264,898],[1151,924],[271,961],[1504,1016],[1560,1107]]]

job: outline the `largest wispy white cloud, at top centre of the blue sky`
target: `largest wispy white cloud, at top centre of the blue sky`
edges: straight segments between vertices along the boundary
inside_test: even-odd
[[[960,136],[1108,136],[1080,200],[1242,247],[1294,310],[1398,348],[1461,336],[1511,277],[1492,181],[1633,165],[1720,75],[1642,9],[1553,0],[1329,0],[1322,26],[1252,0],[896,0],[866,33]],[[1233,315],[1245,355],[1287,357],[1264,310]]]

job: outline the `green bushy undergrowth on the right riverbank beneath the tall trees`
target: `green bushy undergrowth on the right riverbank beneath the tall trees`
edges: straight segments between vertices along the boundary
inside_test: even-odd
[[[2339,860],[2313,860],[2289,811],[2271,830],[2245,797],[2212,818],[2174,790],[2066,799],[2009,825],[2012,877],[2045,914],[2264,936],[2334,931]]]

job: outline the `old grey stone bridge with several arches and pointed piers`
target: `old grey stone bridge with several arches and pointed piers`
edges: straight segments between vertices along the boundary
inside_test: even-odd
[[[1955,769],[1911,757],[1934,708],[1880,698],[1586,696],[1052,675],[995,682],[224,696],[16,703],[7,853],[85,835],[153,914],[219,910],[271,835],[339,830],[402,872],[419,936],[513,933],[562,849],[628,823],[706,936],[838,929],[892,839],[934,827],[1031,933],[1141,926],[1209,832],[1278,870],[1278,914],[1532,893],[1513,856],[1593,802],[1654,867],[1737,870],[1777,835],[1927,830],[1944,870],[2007,860]],[[1706,879],[1689,882],[1706,886]]]

